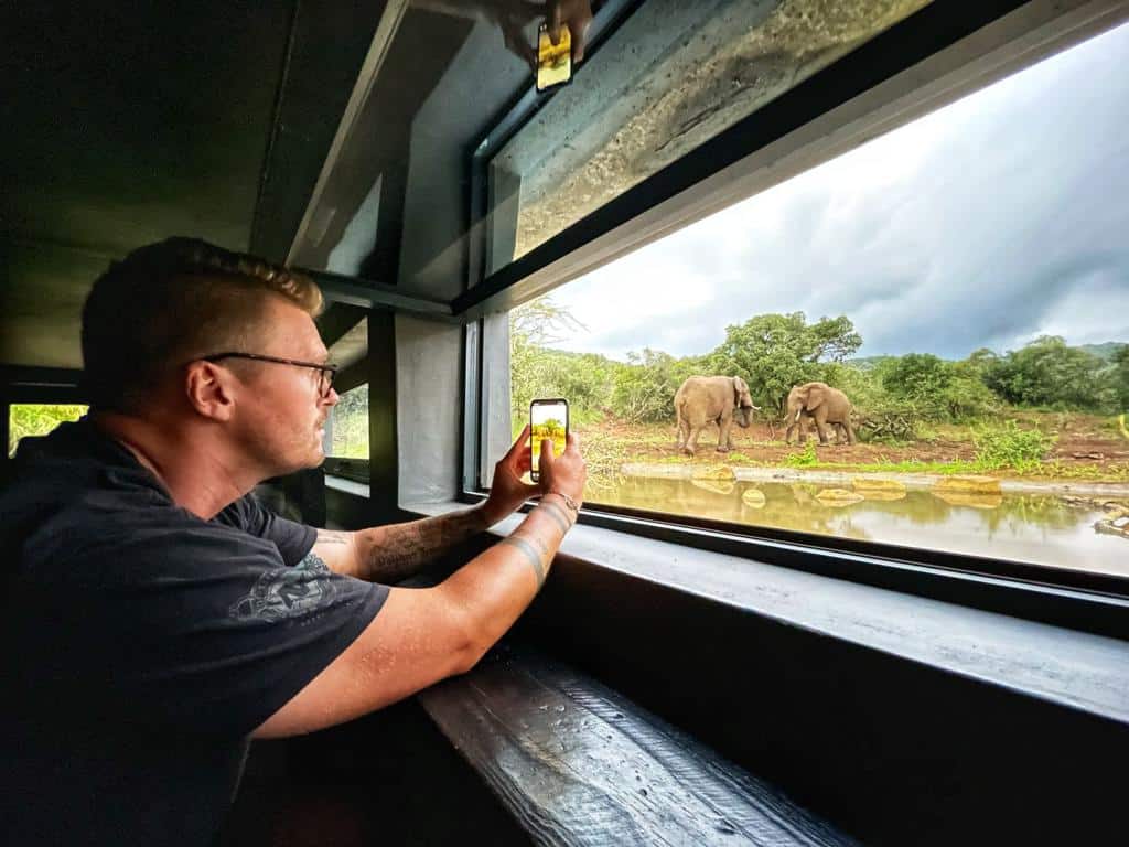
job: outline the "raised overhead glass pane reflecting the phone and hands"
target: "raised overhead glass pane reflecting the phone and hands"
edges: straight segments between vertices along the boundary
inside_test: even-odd
[[[927,5],[581,0],[539,94],[540,5],[410,3],[291,261],[453,299]]]

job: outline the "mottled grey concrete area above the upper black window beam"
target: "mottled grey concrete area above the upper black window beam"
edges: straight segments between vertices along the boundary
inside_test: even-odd
[[[489,272],[927,3],[645,3],[491,160]]]

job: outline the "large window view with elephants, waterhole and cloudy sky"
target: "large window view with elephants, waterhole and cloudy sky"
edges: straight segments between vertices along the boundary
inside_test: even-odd
[[[594,504],[1129,574],[1127,62],[1122,26],[516,309],[515,431],[567,398]]]

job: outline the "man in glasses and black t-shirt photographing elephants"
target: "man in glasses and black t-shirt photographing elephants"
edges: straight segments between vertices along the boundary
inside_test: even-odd
[[[260,481],[322,462],[338,395],[317,288],[203,242],[142,247],[82,314],[90,413],[0,490],[6,844],[207,844],[251,737],[308,733],[471,669],[544,582],[585,481],[523,433],[481,506],[360,532],[285,521]],[[387,587],[532,495],[431,588]]]

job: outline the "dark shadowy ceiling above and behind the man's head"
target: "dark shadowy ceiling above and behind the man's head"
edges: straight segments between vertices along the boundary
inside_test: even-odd
[[[86,292],[137,246],[192,235],[247,250],[256,225],[297,221],[382,8],[6,5],[0,364],[80,367]],[[312,129],[283,136],[275,115],[296,97]],[[289,167],[266,167],[281,155]]]

